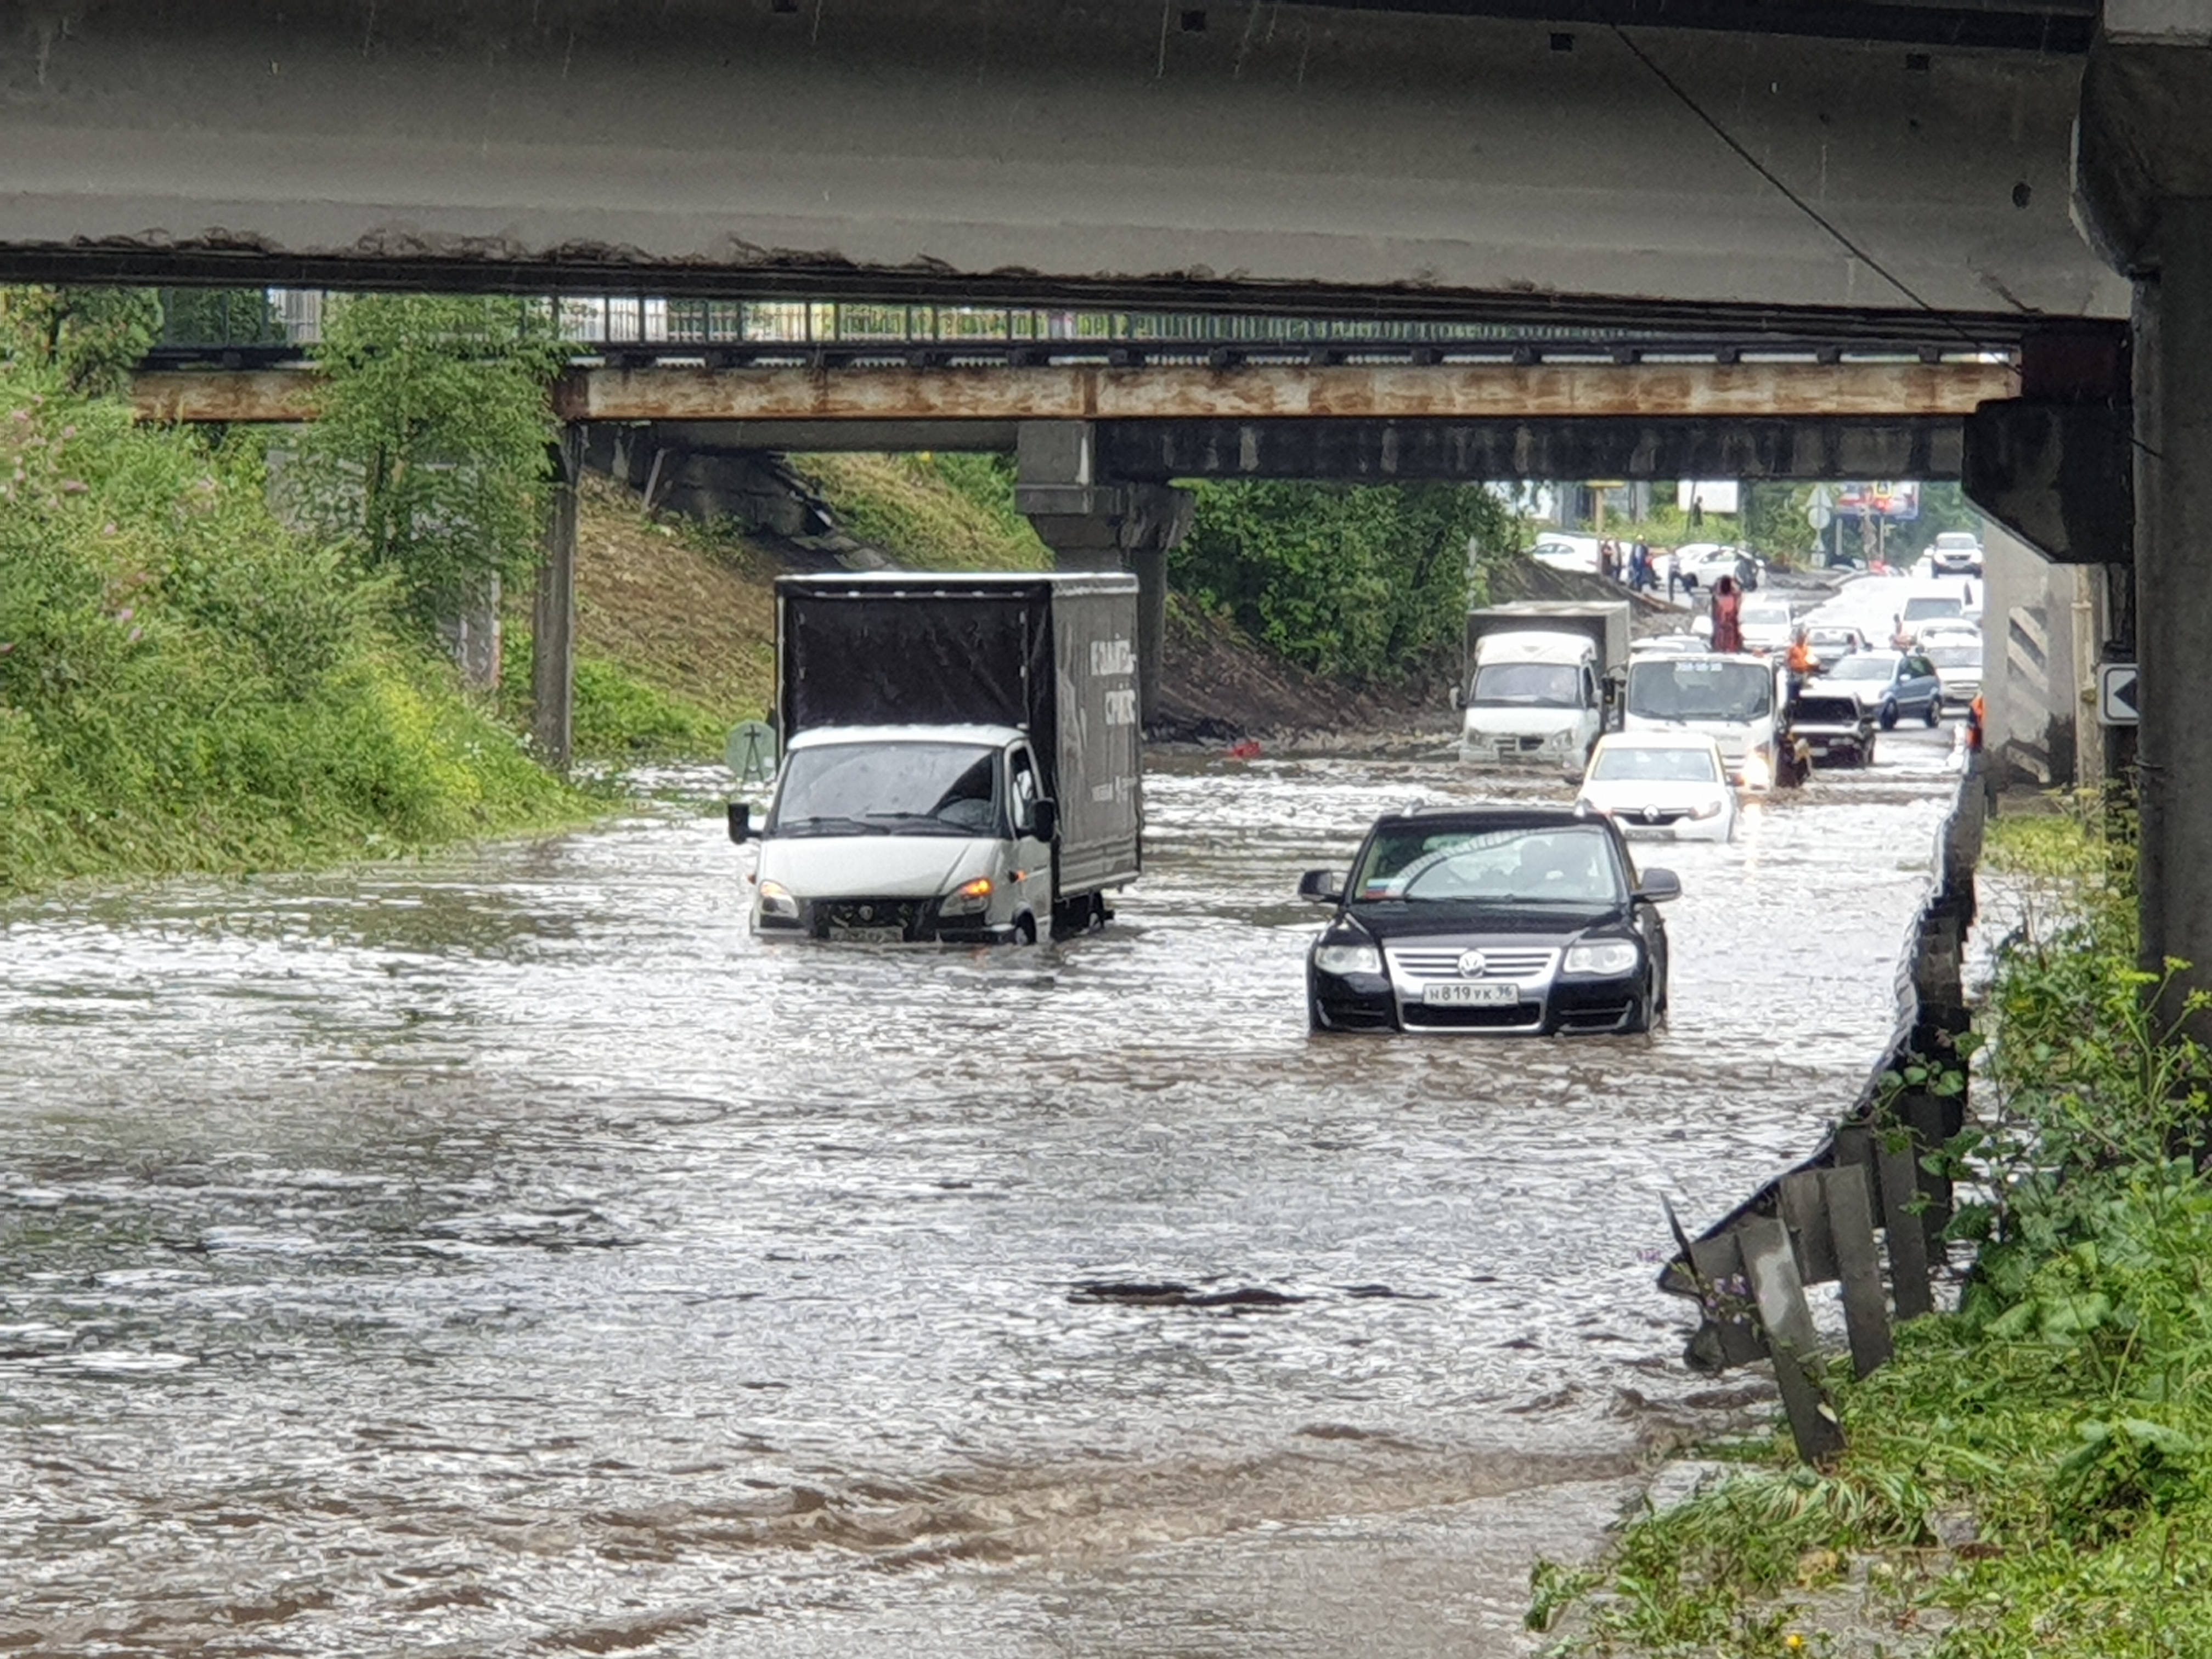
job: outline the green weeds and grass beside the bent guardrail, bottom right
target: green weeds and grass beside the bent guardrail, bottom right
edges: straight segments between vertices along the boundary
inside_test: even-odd
[[[1599,1568],[1537,1568],[1566,1652],[2212,1652],[2212,1183],[2168,1155],[2203,1146],[2203,1055],[2141,1011],[2126,836],[2000,818],[1986,867],[2026,902],[1953,1148],[1960,1310],[1832,1369],[1832,1469],[1725,1449],[1747,1467]]]

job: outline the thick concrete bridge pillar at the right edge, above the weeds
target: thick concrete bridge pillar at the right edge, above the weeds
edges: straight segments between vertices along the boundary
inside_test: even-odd
[[[2183,18],[2188,11],[2188,18]],[[2081,77],[2075,217],[2135,279],[2135,644],[2143,967],[2212,991],[2212,22],[2126,0]],[[2190,1018],[2212,1040],[2212,1015]]]

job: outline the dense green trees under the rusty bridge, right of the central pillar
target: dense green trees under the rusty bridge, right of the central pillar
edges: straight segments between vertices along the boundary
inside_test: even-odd
[[[1201,482],[1170,584],[1267,650],[1387,681],[1458,650],[1482,560],[1520,546],[1491,491],[1460,484]]]

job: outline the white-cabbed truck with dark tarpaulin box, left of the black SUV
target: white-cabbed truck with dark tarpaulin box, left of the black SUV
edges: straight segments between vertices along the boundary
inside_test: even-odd
[[[776,582],[783,761],[752,925],[1029,942],[1137,878],[1137,577],[876,571]]]

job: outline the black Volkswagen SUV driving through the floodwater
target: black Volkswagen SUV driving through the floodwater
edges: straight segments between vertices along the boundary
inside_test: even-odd
[[[1637,872],[1608,818],[1413,807],[1376,821],[1305,958],[1314,1031],[1650,1031],[1666,1013],[1670,869]]]

